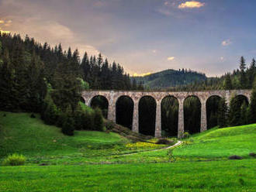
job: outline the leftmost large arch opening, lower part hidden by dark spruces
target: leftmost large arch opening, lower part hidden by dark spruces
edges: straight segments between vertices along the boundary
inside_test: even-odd
[[[109,101],[102,95],[96,95],[92,98],[90,106],[92,108],[100,108],[104,118],[108,118]]]

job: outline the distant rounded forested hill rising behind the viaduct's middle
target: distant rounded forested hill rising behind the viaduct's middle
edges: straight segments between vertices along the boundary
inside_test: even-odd
[[[206,81],[205,74],[192,70],[162,70],[155,74],[144,77],[134,77],[138,84],[143,84],[145,88],[160,89],[176,87],[185,84],[192,84],[197,81]]]

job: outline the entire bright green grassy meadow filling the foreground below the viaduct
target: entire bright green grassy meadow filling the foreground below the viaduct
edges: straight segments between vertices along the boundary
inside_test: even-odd
[[[256,191],[256,125],[211,129],[173,149],[131,143],[115,133],[43,125],[29,114],[0,112],[0,162],[20,153],[25,166],[0,166],[0,191]],[[239,155],[242,160],[229,160]],[[48,166],[39,166],[45,163]]]

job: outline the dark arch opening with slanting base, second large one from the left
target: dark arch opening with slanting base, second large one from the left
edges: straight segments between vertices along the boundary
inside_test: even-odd
[[[133,127],[133,99],[121,96],[116,101],[116,123],[129,129]]]

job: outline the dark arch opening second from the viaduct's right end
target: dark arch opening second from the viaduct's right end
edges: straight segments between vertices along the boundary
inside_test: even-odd
[[[213,95],[206,101],[206,119],[207,129],[211,129],[218,125],[218,111],[220,107],[220,96]]]

